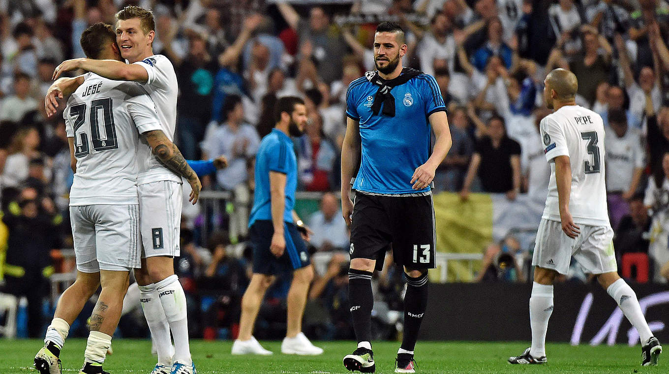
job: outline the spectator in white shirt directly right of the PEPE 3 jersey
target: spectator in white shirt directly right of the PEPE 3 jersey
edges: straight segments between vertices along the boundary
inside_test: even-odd
[[[628,128],[625,112],[609,110],[608,118],[612,131],[607,131],[605,138],[606,199],[611,227],[617,227],[629,212],[627,201],[640,187],[646,157],[640,134],[636,128]]]

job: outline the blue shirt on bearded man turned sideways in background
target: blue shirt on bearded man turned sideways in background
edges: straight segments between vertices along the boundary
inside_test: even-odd
[[[292,209],[295,206],[297,189],[297,157],[290,136],[276,128],[272,128],[272,132],[262,138],[256,155],[256,192],[249,217],[249,227],[258,219],[272,219],[270,171],[286,175],[284,221],[292,223]]]

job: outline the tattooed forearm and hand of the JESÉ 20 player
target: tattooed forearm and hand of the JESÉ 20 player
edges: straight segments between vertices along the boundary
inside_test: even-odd
[[[195,171],[188,165],[186,160],[181,155],[181,151],[172,141],[167,138],[165,132],[162,130],[147,131],[142,136],[145,137],[149,147],[153,150],[153,154],[171,171],[175,172],[180,177],[184,177],[193,188],[189,201],[193,204],[197,203],[200,189],[202,188],[200,180],[197,178]]]

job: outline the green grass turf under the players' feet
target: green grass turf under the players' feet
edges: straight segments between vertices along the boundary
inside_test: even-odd
[[[280,342],[263,342],[275,352],[270,357],[232,356],[231,342],[191,341],[193,359],[198,373],[348,373],[341,364],[351,353],[351,342],[316,343],[325,349],[317,357],[296,357],[280,354]],[[642,367],[641,349],[617,345],[613,347],[571,347],[549,344],[546,365],[508,365],[506,357],[518,355],[528,343],[419,342],[418,373],[666,373],[668,365],[660,360],[658,367]],[[0,373],[36,373],[31,367],[33,357],[42,343],[38,340],[0,340]],[[63,373],[77,373],[83,362],[84,339],[70,339],[62,353]],[[107,358],[104,369],[111,374],[149,374],[155,359],[149,353],[148,341],[117,340],[114,354]],[[392,373],[397,343],[375,343],[377,373]],[[669,361],[669,359],[667,360]],[[29,367],[29,368],[28,368]]]

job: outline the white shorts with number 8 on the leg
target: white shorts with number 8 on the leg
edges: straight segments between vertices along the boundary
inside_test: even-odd
[[[181,183],[159,181],[137,186],[142,258],[179,257]]]

